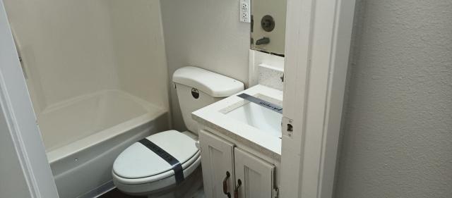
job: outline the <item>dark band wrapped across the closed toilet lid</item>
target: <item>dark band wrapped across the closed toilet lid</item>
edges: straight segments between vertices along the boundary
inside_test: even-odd
[[[167,153],[164,149],[157,146],[157,144],[154,144],[153,142],[150,142],[148,139],[143,139],[138,141],[141,144],[143,144],[145,147],[148,147],[151,151],[153,151],[155,154],[160,156],[162,159],[167,161],[169,165],[172,166],[172,170],[174,171],[174,177],[176,178],[176,183],[179,184],[180,182],[184,181],[184,170],[182,169],[182,165],[174,156]]]

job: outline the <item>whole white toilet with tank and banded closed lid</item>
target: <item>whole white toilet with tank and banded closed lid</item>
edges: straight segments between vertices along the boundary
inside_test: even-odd
[[[244,89],[238,80],[191,66],[176,70],[172,81],[188,131],[158,132],[119,154],[113,163],[113,182],[126,194],[179,198],[196,192],[202,186],[201,151],[191,112]]]

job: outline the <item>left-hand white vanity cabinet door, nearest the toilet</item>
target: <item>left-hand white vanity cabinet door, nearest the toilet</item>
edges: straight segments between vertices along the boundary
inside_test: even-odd
[[[199,144],[201,145],[201,165],[203,166],[206,197],[228,197],[223,192],[223,185],[226,187],[226,192],[229,192],[230,196],[233,197],[234,144],[205,130],[201,130],[199,133]],[[228,178],[227,175],[229,175]],[[225,183],[223,184],[223,182]]]

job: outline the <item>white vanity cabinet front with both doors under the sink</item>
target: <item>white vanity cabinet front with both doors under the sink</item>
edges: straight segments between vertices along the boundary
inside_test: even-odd
[[[212,133],[199,132],[206,197],[274,197],[275,166]]]

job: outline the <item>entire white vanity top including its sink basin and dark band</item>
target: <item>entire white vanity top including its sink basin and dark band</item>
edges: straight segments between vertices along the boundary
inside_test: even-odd
[[[280,160],[283,92],[255,85],[191,113],[206,130]]]

